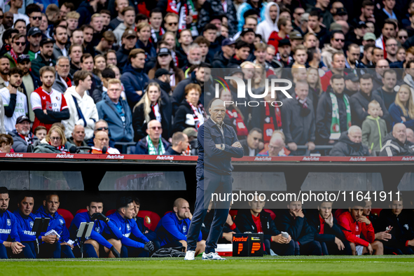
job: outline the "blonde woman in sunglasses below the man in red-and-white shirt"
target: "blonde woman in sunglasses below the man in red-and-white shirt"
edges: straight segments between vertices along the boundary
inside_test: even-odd
[[[62,128],[51,127],[46,139],[42,140],[38,146],[34,148],[34,153],[69,153],[72,151],[73,144],[67,142]],[[76,149],[75,149],[76,150]]]

